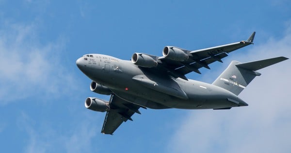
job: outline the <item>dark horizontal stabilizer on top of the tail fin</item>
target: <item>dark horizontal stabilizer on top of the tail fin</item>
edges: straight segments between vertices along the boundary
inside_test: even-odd
[[[266,67],[269,67],[273,64],[285,61],[287,59],[288,58],[281,56],[281,57],[275,57],[275,58],[270,58],[270,59],[265,59],[265,60],[260,60],[260,61],[237,64],[236,66],[240,67],[240,68],[256,71],[256,70],[259,70],[261,68],[266,68]]]

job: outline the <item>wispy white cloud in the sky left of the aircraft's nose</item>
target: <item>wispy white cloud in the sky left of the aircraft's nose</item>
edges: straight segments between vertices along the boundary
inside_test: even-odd
[[[73,75],[59,60],[65,38],[60,36],[55,42],[42,44],[37,24],[4,24],[0,30],[0,105],[35,95],[68,92]]]

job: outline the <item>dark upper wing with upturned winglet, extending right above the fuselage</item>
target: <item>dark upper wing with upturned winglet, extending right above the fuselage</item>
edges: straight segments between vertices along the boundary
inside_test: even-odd
[[[182,51],[189,52],[189,59],[186,61],[180,62],[165,57],[160,57],[159,60],[161,60],[162,66],[166,68],[168,72],[170,72],[174,77],[180,77],[187,80],[185,74],[188,74],[192,71],[201,74],[201,72],[198,70],[199,68],[204,67],[210,69],[208,66],[209,64],[216,61],[222,62],[221,59],[226,57],[227,53],[253,44],[255,34],[256,32],[252,33],[247,40],[236,43],[195,51],[181,49]]]

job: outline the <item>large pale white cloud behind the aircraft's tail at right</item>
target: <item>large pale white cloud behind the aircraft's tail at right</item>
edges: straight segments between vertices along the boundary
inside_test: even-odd
[[[269,38],[238,61],[291,57],[291,24],[283,38]],[[226,62],[229,63],[229,62]],[[169,152],[289,153],[291,129],[291,60],[259,70],[261,76],[242,91],[249,106],[231,110],[197,110],[181,121],[169,141]],[[214,72],[216,73],[216,72]]]

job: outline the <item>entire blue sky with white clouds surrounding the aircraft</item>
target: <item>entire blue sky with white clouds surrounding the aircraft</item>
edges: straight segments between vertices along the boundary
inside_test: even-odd
[[[230,110],[141,109],[114,136],[84,107],[86,53],[130,59],[164,46],[255,45],[191,73],[212,83],[231,60],[291,57],[290,0],[0,0],[0,150],[3,153],[290,153],[291,61],[260,70]]]

